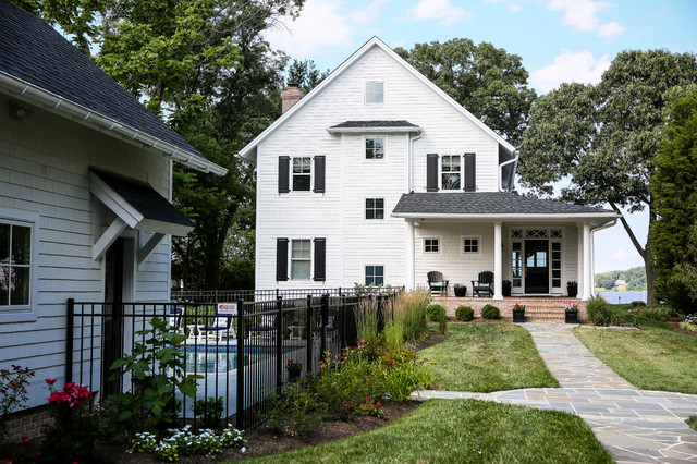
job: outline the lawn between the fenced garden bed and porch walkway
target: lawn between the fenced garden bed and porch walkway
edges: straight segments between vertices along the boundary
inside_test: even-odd
[[[436,363],[441,390],[489,393],[531,387],[559,387],[529,332],[510,323],[448,325],[450,339],[421,350]]]

